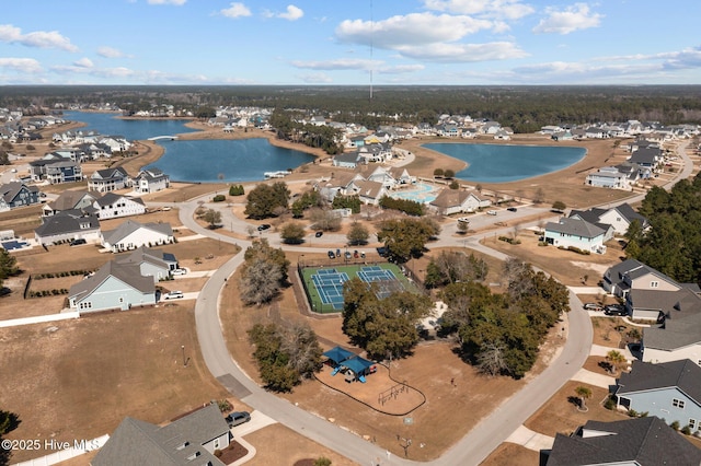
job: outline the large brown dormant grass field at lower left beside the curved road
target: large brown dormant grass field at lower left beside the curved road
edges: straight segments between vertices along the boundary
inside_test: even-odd
[[[227,397],[202,360],[193,306],[0,329],[2,409],[22,421],[7,436],[72,443],[112,433],[125,416],[161,423]]]

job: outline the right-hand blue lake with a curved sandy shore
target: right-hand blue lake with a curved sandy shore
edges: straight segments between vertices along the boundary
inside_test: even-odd
[[[566,168],[586,155],[586,149],[572,147],[441,143],[424,148],[459,159],[469,166],[456,178],[475,183],[507,183],[532,178]]]

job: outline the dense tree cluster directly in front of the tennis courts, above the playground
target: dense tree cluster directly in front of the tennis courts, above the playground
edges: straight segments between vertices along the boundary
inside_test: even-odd
[[[377,283],[354,277],[343,286],[343,331],[374,359],[401,358],[418,343],[418,319],[433,302],[425,294],[402,291],[377,296]]]

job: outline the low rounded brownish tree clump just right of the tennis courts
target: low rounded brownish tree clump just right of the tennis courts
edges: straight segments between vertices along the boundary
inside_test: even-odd
[[[462,252],[444,251],[426,266],[424,286],[438,288],[461,281],[482,281],[489,271],[484,259],[474,254],[468,256]]]

